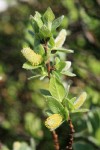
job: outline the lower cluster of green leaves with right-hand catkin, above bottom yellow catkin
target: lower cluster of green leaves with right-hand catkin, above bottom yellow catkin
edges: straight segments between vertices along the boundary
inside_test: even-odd
[[[49,90],[41,89],[41,93],[46,98],[48,110],[46,113],[48,116],[53,114],[60,114],[63,121],[68,120],[72,113],[87,112],[88,109],[80,109],[86,100],[86,92],[82,92],[79,97],[73,97],[69,99],[69,87],[65,89],[62,82],[56,76],[52,76],[49,83]]]

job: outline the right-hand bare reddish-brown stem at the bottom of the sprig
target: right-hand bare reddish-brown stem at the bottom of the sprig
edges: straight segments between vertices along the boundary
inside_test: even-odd
[[[69,124],[69,135],[68,135],[68,142],[67,142],[67,146],[66,146],[66,150],[72,150],[72,144],[73,144],[73,133],[75,132],[74,130],[74,126],[72,124],[72,121],[69,117],[68,119],[68,124]]]

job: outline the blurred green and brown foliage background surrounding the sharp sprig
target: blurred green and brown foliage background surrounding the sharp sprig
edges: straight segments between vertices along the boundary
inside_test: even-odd
[[[73,115],[73,150],[100,149],[100,0],[0,0],[0,150],[53,150],[52,136],[44,126],[45,100],[39,88],[47,83],[27,80],[22,69],[22,46],[32,43],[29,16],[50,6],[56,17],[65,15],[68,30],[65,47],[74,50],[70,96],[88,93],[84,106],[90,111]],[[62,150],[68,135],[67,123],[57,129]]]

